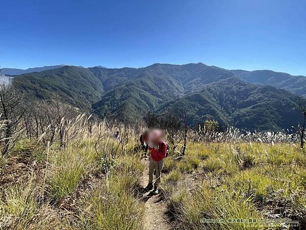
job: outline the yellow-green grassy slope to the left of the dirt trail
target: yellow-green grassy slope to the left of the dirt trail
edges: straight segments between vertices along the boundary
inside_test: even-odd
[[[1,158],[0,228],[141,229],[143,164],[131,155],[133,143],[106,176],[93,141],[83,137],[61,150],[26,141]]]

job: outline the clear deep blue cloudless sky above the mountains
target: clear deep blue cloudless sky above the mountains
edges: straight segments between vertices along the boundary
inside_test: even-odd
[[[0,65],[203,62],[306,75],[306,1],[0,1]]]

